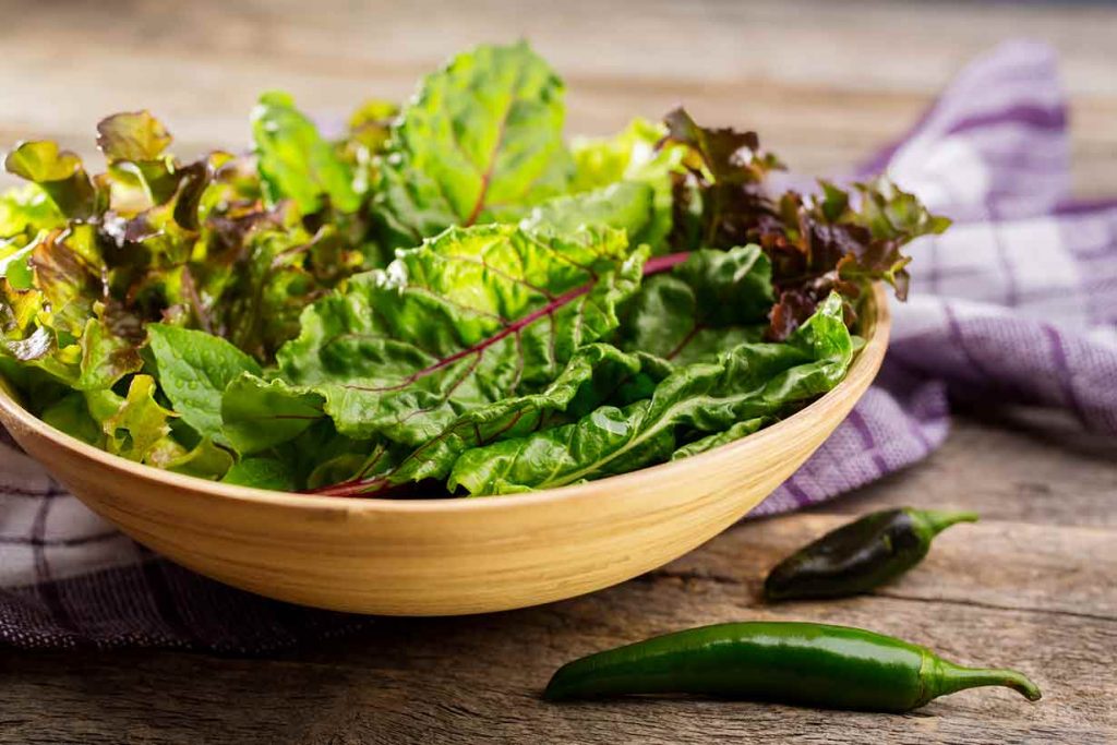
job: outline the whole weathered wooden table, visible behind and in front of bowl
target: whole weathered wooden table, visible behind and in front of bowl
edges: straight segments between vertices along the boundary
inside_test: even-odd
[[[405,7],[404,7],[405,4]],[[257,92],[342,115],[402,97],[446,55],[526,36],[566,77],[571,128],[602,133],[677,101],[757,127],[803,170],[901,132],[970,57],[1050,40],[1072,102],[1077,188],[1117,192],[1117,10],[881,2],[0,2],[0,144],[92,152],[99,115],[150,107],[179,151],[247,142]],[[7,183],[7,182],[4,182]],[[1117,443],[1052,417],[966,416],[929,460],[823,509],[753,522],[591,596],[464,619],[379,621],[269,659],[0,650],[3,743],[1117,741]],[[978,509],[872,595],[767,609],[782,555],[887,505]],[[1046,698],[966,691],[908,716],[655,700],[551,706],[575,656],[728,619],[870,627],[964,662],[1012,663]]]

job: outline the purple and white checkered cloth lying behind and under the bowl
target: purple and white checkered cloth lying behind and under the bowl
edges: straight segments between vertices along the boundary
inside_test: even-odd
[[[916,462],[949,424],[947,392],[1059,407],[1117,433],[1117,201],[1069,201],[1056,59],[1012,42],[974,63],[896,145],[886,171],[955,219],[913,246],[880,378],[754,514],[831,498]],[[367,623],[266,600],[153,555],[0,442],[0,641],[260,652]]]

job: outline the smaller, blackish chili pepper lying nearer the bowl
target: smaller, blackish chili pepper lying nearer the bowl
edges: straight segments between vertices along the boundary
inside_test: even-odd
[[[840,598],[895,580],[923,561],[932,539],[976,513],[886,509],[827,533],[780,562],[764,581],[767,600]]]

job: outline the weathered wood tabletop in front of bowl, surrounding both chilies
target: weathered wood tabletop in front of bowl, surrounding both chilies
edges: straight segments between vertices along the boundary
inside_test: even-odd
[[[1028,488],[1012,495],[1005,487],[999,497],[987,488],[1012,484],[1012,464],[1056,456],[1027,433],[963,419],[942,451],[891,485],[743,524],[662,570],[542,608],[382,619],[355,637],[269,659],[0,652],[0,742],[1111,743],[1114,531],[1035,517],[1053,503],[1068,515],[1089,514],[1099,485],[1117,479],[1113,443],[1085,445],[1030,475]],[[944,533],[922,567],[872,595],[758,602],[761,580],[780,557],[849,512],[897,497],[984,517]],[[537,698],[575,656],[700,623],[776,618],[862,625],[957,661],[1012,665],[1034,676],[1044,698],[1029,705],[1011,691],[965,691],[906,716]]]

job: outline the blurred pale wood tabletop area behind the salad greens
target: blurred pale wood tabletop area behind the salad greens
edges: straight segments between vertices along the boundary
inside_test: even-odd
[[[307,108],[341,117],[365,96],[407,96],[420,74],[469,44],[525,36],[570,83],[572,132],[609,132],[685,101],[709,121],[758,128],[798,169],[827,171],[903,132],[997,38],[1028,36],[1065,55],[1079,190],[1111,190],[1117,159],[1117,78],[1106,51],[1117,11],[1098,7],[657,2],[650,12],[536,0],[328,12],[207,0],[131,2],[113,12],[106,3],[9,0],[0,15],[13,19],[0,28],[3,146],[51,136],[92,154],[97,118],[149,107],[187,155],[237,149],[260,90],[281,86]],[[59,64],[61,48],[82,64]]]

